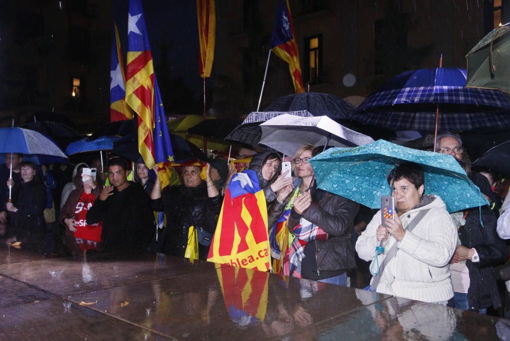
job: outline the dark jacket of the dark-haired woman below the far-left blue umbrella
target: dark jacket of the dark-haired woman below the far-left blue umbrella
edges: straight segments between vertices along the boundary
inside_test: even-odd
[[[12,189],[12,202],[18,209],[15,213],[17,226],[31,230],[44,230],[44,208],[46,207],[46,188],[42,183],[32,180],[15,184]]]

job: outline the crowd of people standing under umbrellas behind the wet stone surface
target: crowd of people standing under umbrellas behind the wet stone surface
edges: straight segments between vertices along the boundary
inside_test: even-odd
[[[311,144],[291,159],[292,176],[281,172],[279,153],[241,148],[236,159],[251,160],[228,166],[220,156],[203,166],[176,167],[180,185],[164,188],[157,166],[133,167],[118,156],[101,172],[101,160],[91,167],[79,163],[72,170],[68,165],[50,170],[14,153],[0,167],[0,234],[8,242],[37,240],[45,253],[67,237],[105,250],[183,257],[193,227],[198,258],[205,260],[228,185],[238,172],[249,171],[266,199],[268,233],[282,221],[290,233],[283,274],[368,285],[379,293],[480,313],[505,306],[510,317],[509,290],[501,290],[510,276],[498,275],[508,258],[503,239],[510,238],[510,201],[500,175],[472,170],[457,135],[440,135],[437,143],[438,152],[452,155],[465,169],[488,205],[449,213],[441,197],[426,193],[423,169],[405,163],[387,179],[398,214],[381,221],[380,211],[317,187],[310,159],[323,147]],[[96,168],[97,176],[84,171],[89,168]],[[52,209],[60,233],[48,228]],[[374,252],[378,246],[385,251]]]

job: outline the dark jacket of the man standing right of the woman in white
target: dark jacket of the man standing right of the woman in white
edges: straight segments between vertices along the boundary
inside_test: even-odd
[[[493,267],[503,264],[507,258],[506,244],[496,233],[496,216],[488,206],[481,207],[481,219],[483,226],[479,209],[470,209],[466,224],[458,230],[462,245],[475,248],[480,257],[478,263],[466,261],[470,279],[468,302],[472,310],[501,305]]]

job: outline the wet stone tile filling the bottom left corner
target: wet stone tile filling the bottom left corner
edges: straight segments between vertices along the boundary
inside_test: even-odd
[[[63,299],[0,308],[0,326],[2,340],[168,340]]]

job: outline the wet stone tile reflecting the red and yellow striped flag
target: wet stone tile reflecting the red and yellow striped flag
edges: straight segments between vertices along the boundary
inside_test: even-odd
[[[360,298],[361,297],[361,298]],[[187,339],[267,339],[388,298],[226,267],[69,297],[123,321]]]

